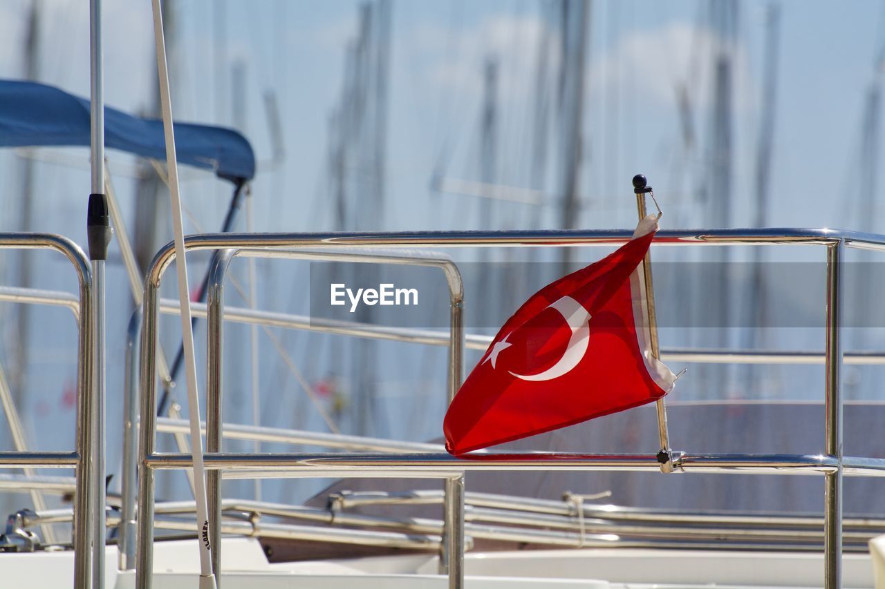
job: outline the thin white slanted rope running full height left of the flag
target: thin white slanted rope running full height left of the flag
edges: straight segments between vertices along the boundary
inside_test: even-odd
[[[196,484],[196,533],[200,545],[200,589],[214,589],[212,553],[209,539],[209,506],[206,500],[206,475],[203,464],[203,438],[200,435],[200,397],[196,389],[196,357],[194,332],[191,327],[190,294],[188,287],[188,264],[184,255],[184,231],[181,222],[181,194],[178,182],[178,162],[175,159],[175,136],[173,134],[172,94],[169,90],[169,68],[166,64],[163,13],[160,0],[151,2],[154,13],[154,43],[157,47],[157,73],[160,82],[160,103],[163,107],[163,133],[165,135],[166,163],[169,171],[169,196],[172,203],[173,238],[175,241],[175,267],[178,271],[178,298],[181,305],[181,339],[184,343],[184,369],[188,385],[188,413],[190,418],[190,441],[194,455],[194,483]]]

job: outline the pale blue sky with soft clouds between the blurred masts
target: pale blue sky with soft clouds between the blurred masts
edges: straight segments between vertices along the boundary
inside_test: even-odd
[[[345,47],[356,35],[359,4],[350,0],[165,2],[174,20],[167,34],[175,117],[239,124],[250,139],[258,158],[253,186],[257,231],[333,227],[327,130],[341,94]],[[763,0],[737,3],[731,226],[753,222],[763,39],[770,4]],[[0,77],[22,76],[25,23],[33,5],[41,9],[37,80],[88,96],[89,19],[81,0],[36,4],[4,0],[0,4]],[[535,0],[394,0],[388,194],[381,224],[367,228],[479,228],[474,197],[435,195],[430,180],[440,169],[451,179],[480,178],[482,67],[489,57],[496,58],[500,68],[496,177],[507,186],[528,187],[532,128],[528,106],[535,92],[550,89],[534,86],[535,43],[550,27],[543,18],[543,5]],[[793,0],[778,5],[780,76],[766,225],[838,226],[885,233],[881,229],[885,211],[872,218],[861,213],[865,199],[878,200],[882,188],[859,185],[861,121],[866,94],[877,80],[874,64],[885,42],[885,9],[873,0]],[[577,226],[633,226],[630,179],[637,172],[645,173],[655,187],[666,211],[666,228],[703,223],[706,205],[698,202],[696,189],[709,168],[704,148],[711,109],[709,56],[724,42],[703,18],[709,6],[706,0],[592,3],[579,190],[584,205]],[[156,92],[150,2],[104,0],[104,27],[107,103],[136,113],[148,110]],[[246,107],[238,118],[231,112],[235,64],[245,72]],[[687,149],[681,139],[676,100],[676,88],[681,85],[689,88],[693,104],[697,136],[693,149]],[[279,103],[285,152],[278,163],[273,162],[263,106],[268,91]],[[89,194],[88,154],[83,149],[51,150],[35,165],[39,228],[69,235],[85,246],[81,221]],[[111,168],[124,213],[131,219],[134,162],[114,153]],[[14,195],[20,170],[19,155],[0,154],[0,175],[8,179],[5,195],[0,197],[0,231],[19,229],[19,202]],[[228,185],[203,172],[184,171],[182,179],[189,212],[186,230],[209,231],[219,226]],[[555,184],[548,180],[548,185]],[[718,195],[717,187],[711,187],[711,195]],[[556,211],[556,206],[544,206],[541,225],[556,226]],[[528,205],[499,205],[495,226],[528,228],[532,212]],[[244,228],[242,221],[238,227]],[[13,277],[15,264],[9,256],[0,258],[0,275]],[[61,270],[62,264],[49,267],[54,270],[41,272],[37,286],[73,290],[70,272]],[[289,285],[279,275],[262,275],[269,283],[266,299]],[[108,379],[109,390],[119,390],[129,303],[119,266],[109,270],[109,280],[114,293],[109,309],[116,315],[109,323],[112,371]],[[304,311],[304,306],[295,307],[286,310]],[[10,317],[8,310],[0,313],[0,319]],[[12,324],[6,321],[5,325],[8,355]],[[41,336],[45,349],[39,362],[57,362],[70,345],[70,339],[63,341],[59,336],[56,341],[52,335],[52,340],[45,340],[47,334]],[[73,331],[66,331],[65,338],[73,338]],[[42,373],[42,364],[34,362],[34,394],[28,400],[28,413],[35,416],[47,411],[65,417],[68,409],[58,409],[57,397],[71,379],[73,363]],[[392,385],[397,386],[408,388],[407,383]],[[108,410],[110,415],[121,410],[119,395],[109,398]],[[73,425],[65,424],[58,434],[68,439]],[[35,431],[33,420],[29,427]],[[414,438],[425,434],[420,428],[409,432]]]

